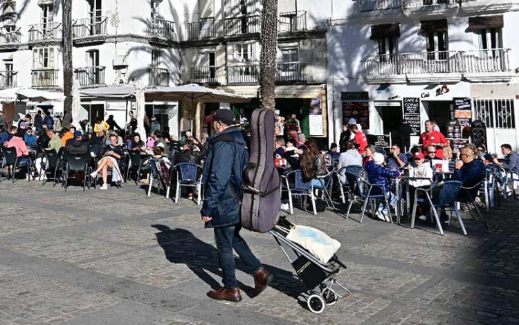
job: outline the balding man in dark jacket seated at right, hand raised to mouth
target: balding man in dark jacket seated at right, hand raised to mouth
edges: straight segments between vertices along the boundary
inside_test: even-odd
[[[473,189],[462,189],[458,198],[460,202],[473,201],[477,198],[480,186],[476,186],[486,177],[486,170],[483,161],[477,158],[476,153],[471,147],[463,147],[459,155],[461,160],[457,160],[454,169],[454,179],[461,180],[463,187],[474,187]]]

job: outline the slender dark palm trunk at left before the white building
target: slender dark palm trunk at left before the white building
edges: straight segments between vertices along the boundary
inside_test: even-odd
[[[65,95],[63,107],[63,126],[69,127],[72,122],[72,0],[63,0],[63,93]]]

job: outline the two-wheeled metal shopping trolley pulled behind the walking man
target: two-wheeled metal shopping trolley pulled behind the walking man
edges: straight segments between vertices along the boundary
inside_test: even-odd
[[[326,305],[331,306],[339,298],[343,298],[333,288],[335,284],[349,295],[349,290],[332,277],[339,272],[340,268],[346,268],[346,266],[339,261],[335,254],[327,263],[322,263],[309,250],[287,239],[286,236],[294,226],[293,223],[286,220],[285,216],[281,216],[277,225],[270,233],[274,236],[277,244],[280,245],[286,258],[289,259],[298,277],[307,286],[308,291],[306,295],[309,310],[312,313],[319,314],[325,310]],[[291,248],[295,258],[291,258],[285,248]]]

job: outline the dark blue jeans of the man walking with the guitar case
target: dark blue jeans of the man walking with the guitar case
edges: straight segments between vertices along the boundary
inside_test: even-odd
[[[220,258],[221,272],[223,273],[222,282],[224,282],[226,288],[237,288],[238,286],[233,248],[251,274],[262,266],[260,260],[251,252],[251,248],[248,248],[247,243],[239,236],[239,230],[241,229],[241,225],[215,228],[215,241]]]

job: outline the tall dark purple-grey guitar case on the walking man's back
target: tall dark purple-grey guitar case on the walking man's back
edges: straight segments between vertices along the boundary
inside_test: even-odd
[[[242,226],[268,232],[280,213],[280,176],[274,162],[275,113],[255,109],[251,118],[251,153],[244,170]]]

